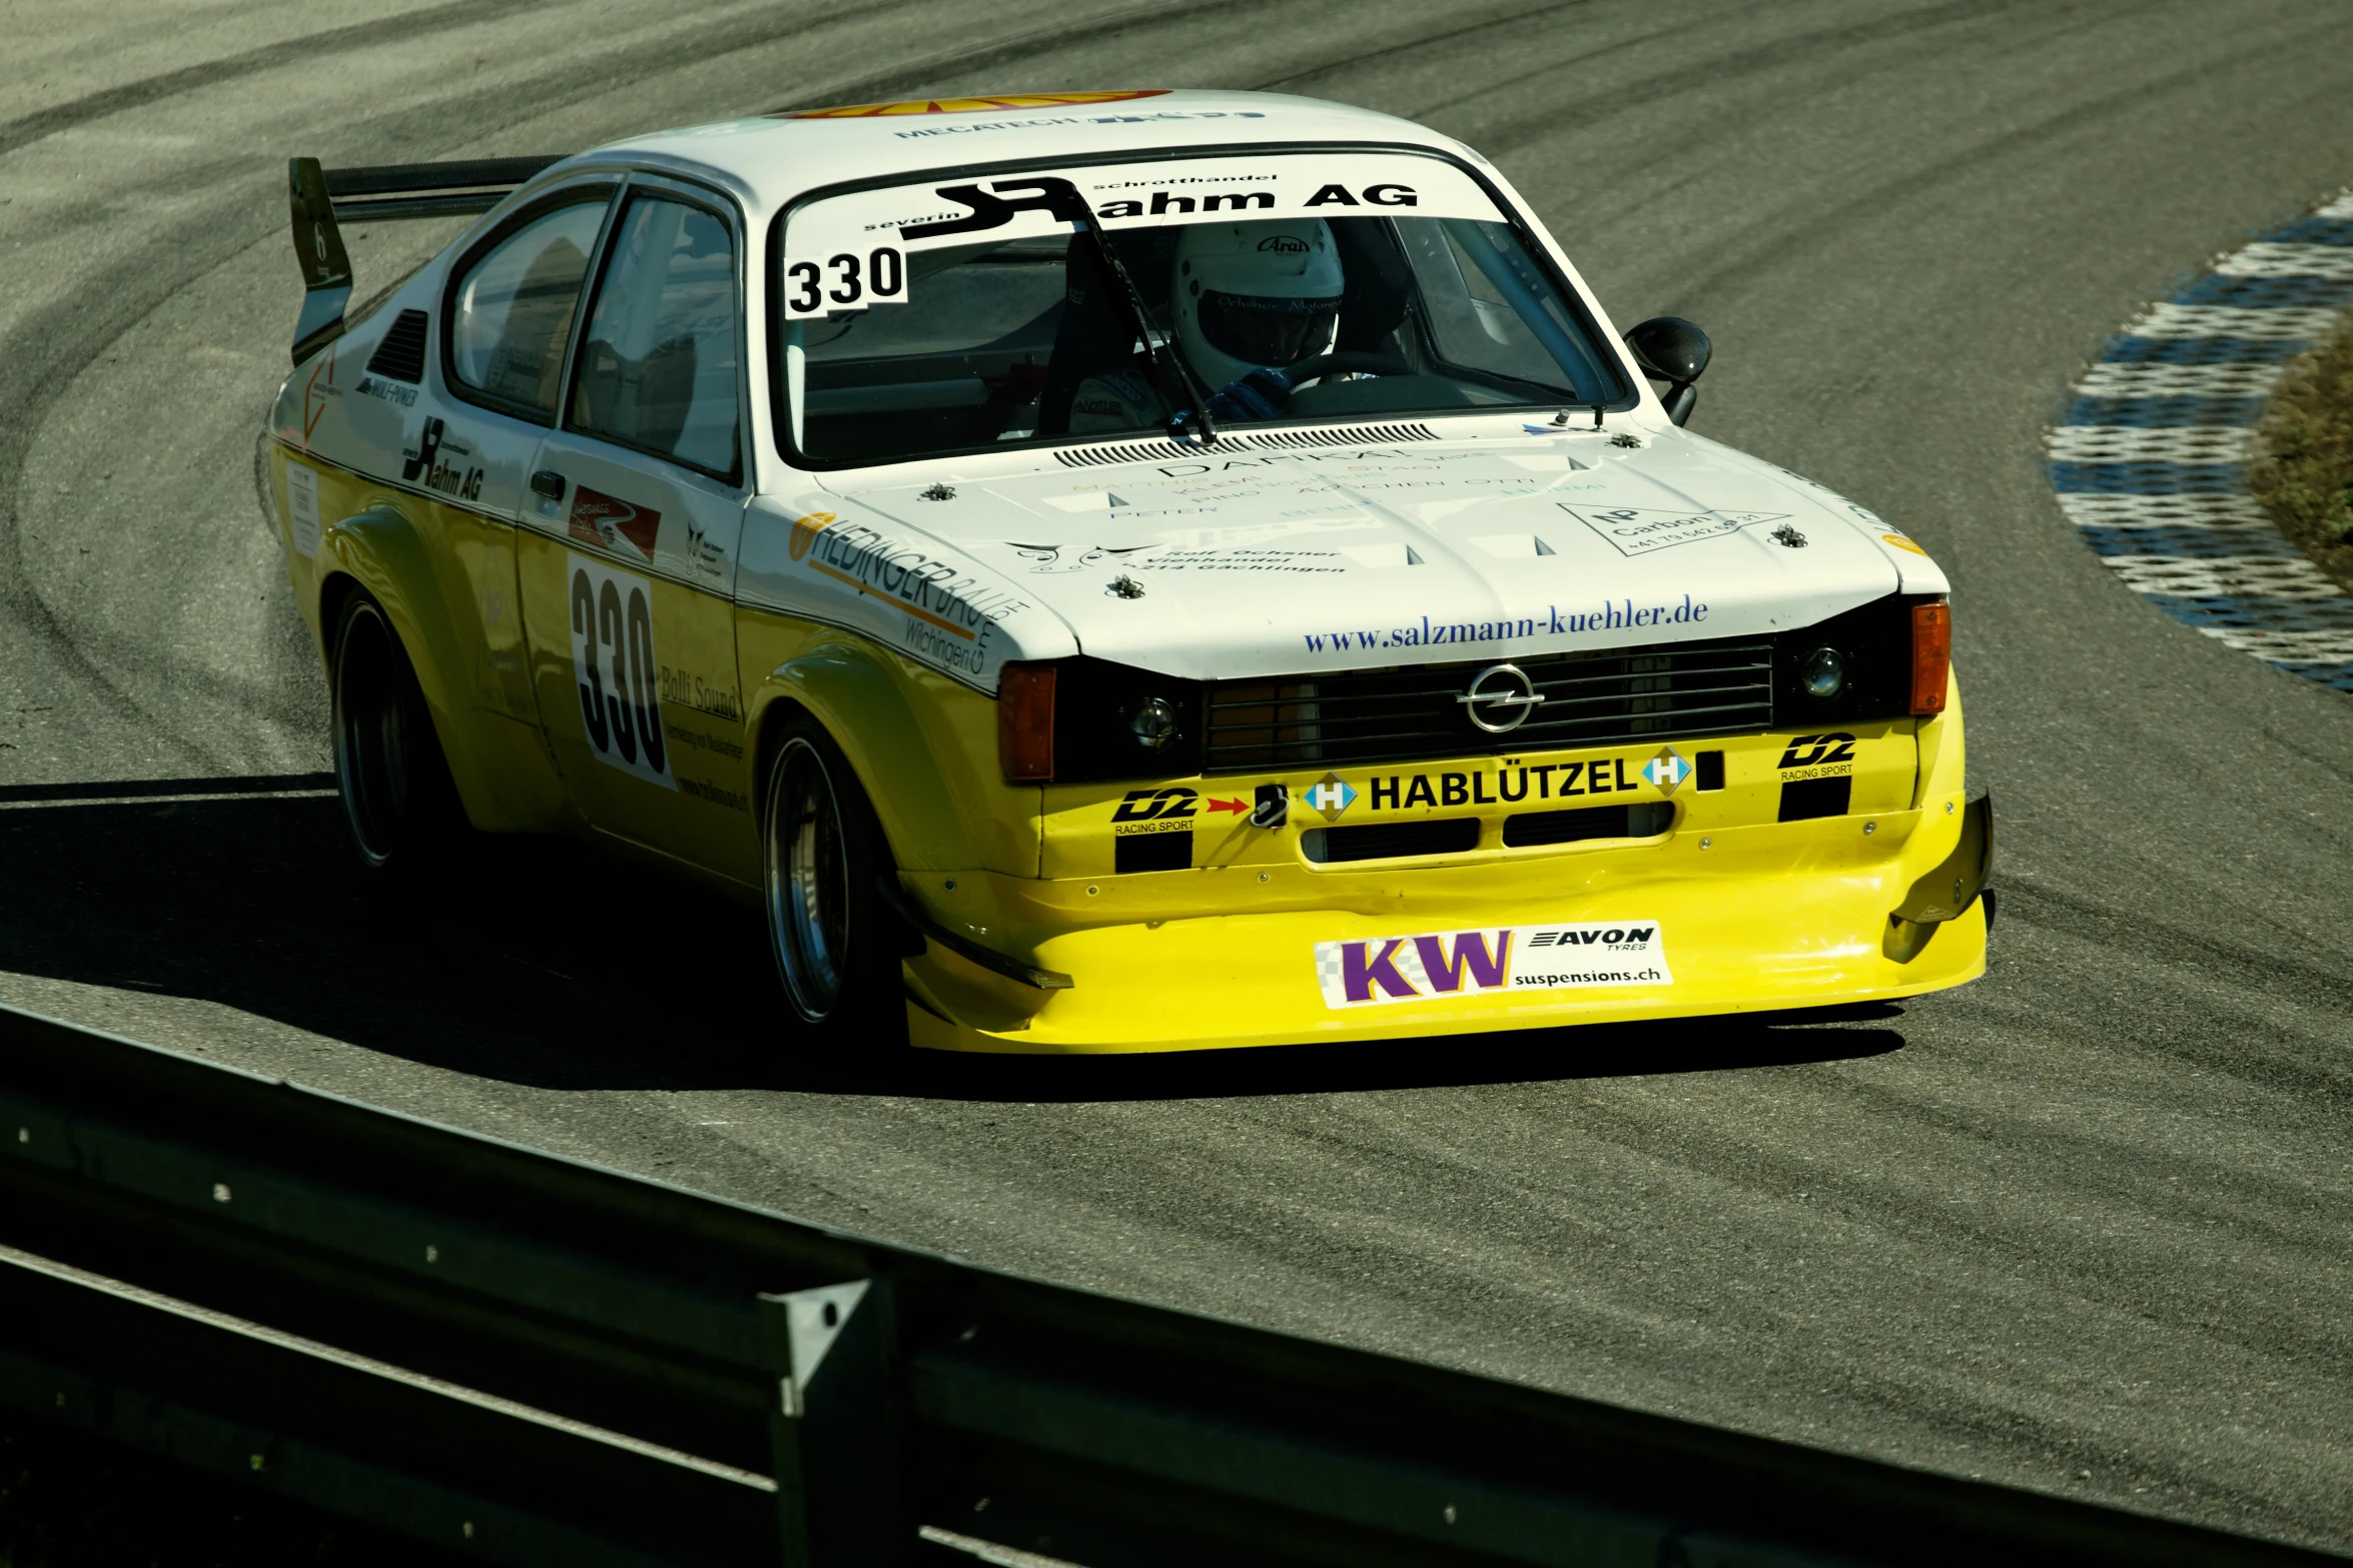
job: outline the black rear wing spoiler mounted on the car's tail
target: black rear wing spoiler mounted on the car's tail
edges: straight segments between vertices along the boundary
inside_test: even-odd
[[[320,169],[315,158],[287,162],[294,207],[294,259],[301,263],[301,315],[294,320],[294,362],[344,336],[351,303],[351,254],[339,219],[454,219],[489,212],[515,186],[560,158],[461,158],[454,162],[395,162],[374,169]]]

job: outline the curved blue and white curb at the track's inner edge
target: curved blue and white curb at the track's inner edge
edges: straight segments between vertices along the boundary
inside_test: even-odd
[[[2247,458],[2289,360],[2353,306],[2353,195],[2224,256],[2151,306],[2049,428],[2068,522],[2174,621],[2353,691],[2353,595],[2247,494]]]

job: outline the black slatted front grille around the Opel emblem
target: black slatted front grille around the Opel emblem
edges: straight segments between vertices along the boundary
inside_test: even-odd
[[[1544,703],[1497,736],[1459,703],[1497,661],[1209,689],[1207,771],[1522,755],[1774,726],[1769,642],[1685,642],[1511,661]]]

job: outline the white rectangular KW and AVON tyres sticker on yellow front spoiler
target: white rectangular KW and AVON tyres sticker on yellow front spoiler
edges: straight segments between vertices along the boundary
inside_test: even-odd
[[[1325,1006],[1673,985],[1659,922],[1581,922],[1315,943]]]

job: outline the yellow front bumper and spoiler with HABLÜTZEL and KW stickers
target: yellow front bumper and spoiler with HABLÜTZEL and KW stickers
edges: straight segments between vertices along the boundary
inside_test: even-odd
[[[1720,759],[1685,776],[1699,752]],[[1781,820],[1786,785],[1817,778],[1847,780],[1845,809]],[[1329,813],[1334,780],[1355,797]],[[1252,825],[1259,785],[1282,785],[1280,827]],[[1513,818],[1595,806],[1638,806],[1626,823],[1642,837],[1508,842],[1529,835]],[[1405,858],[1337,860],[1332,832],[1311,837],[1464,818],[1475,842]],[[1937,719],[1849,724],[1828,743],[1774,731],[1047,785],[1040,877],[901,882],[941,926],[1068,985],[1024,985],[934,940],[908,961],[908,1027],[953,1051],[1191,1051],[1911,997],[1986,969],[1969,823],[1958,693]],[[1120,870],[1122,837],[1162,835],[1191,835],[1186,870]],[[1565,964],[1555,940],[1588,947]]]

